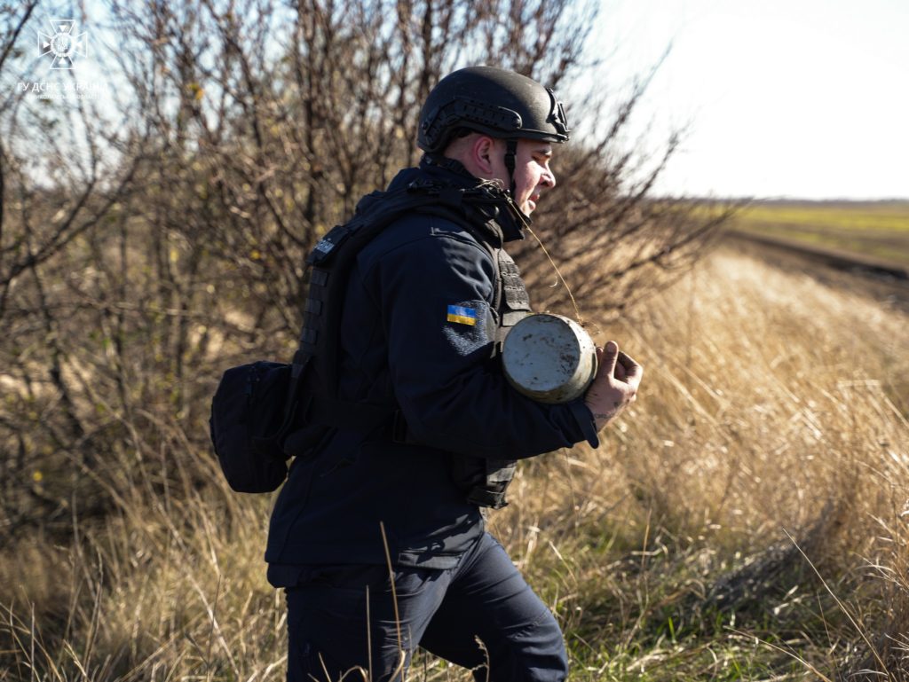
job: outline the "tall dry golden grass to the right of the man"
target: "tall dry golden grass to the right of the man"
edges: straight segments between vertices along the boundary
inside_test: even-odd
[[[876,649],[903,678],[909,338],[904,314],[849,287],[719,252],[610,331],[644,363],[641,401],[605,448],[552,462],[542,494],[522,479],[524,503],[495,524],[532,573],[550,542],[566,559],[539,575],[565,567],[555,598],[591,659],[631,652],[630,670],[655,649],[653,678],[679,678],[684,657],[705,667],[682,678],[713,677],[708,657],[742,669],[714,638],[741,657],[744,627],[799,642],[829,677],[883,670]],[[778,675],[778,652],[759,653],[731,678],[772,677],[767,658]]]

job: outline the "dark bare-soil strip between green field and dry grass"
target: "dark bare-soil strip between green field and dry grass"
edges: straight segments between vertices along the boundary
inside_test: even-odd
[[[724,244],[775,267],[806,272],[830,286],[847,287],[885,305],[909,311],[909,271],[899,265],[738,231],[726,232]]]

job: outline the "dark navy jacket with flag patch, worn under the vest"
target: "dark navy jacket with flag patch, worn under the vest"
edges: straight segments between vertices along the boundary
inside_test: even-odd
[[[480,182],[456,162],[424,159],[389,189],[421,179]],[[453,457],[519,460],[581,440],[597,445],[583,400],[534,402],[491,357],[496,268],[480,240],[521,238],[505,213],[472,229],[407,215],[358,255],[342,318],[339,397],[399,406],[419,444],[395,443],[386,427],[330,430],[315,453],[297,458],[265,552],[275,585],[293,584],[301,565],[385,563],[380,521],[395,564],[450,568],[483,532],[479,509],[454,485]],[[450,306],[475,317],[451,320]]]

